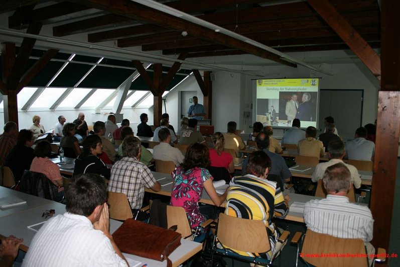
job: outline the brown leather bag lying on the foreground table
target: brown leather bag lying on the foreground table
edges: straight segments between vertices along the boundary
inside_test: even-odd
[[[112,237],[122,252],[159,261],[167,259],[167,266],[171,266],[172,262],[168,256],[181,244],[182,235],[172,230],[127,219]]]

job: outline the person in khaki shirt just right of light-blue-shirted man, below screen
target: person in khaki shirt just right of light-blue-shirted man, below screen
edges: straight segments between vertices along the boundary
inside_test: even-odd
[[[324,144],[315,139],[317,129],[309,126],[306,129],[306,139],[301,140],[297,145],[297,150],[301,156],[323,157],[325,154]]]

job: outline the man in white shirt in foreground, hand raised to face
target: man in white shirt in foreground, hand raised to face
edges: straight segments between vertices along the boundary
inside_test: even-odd
[[[23,266],[128,266],[108,230],[104,179],[79,175],[65,194],[67,212],[35,234]]]

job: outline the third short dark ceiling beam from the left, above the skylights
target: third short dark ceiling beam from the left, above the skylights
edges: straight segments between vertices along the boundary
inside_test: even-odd
[[[87,41],[90,43],[104,42],[109,40],[116,40],[119,38],[129,38],[136,37],[148,33],[163,33],[163,32],[171,32],[166,28],[152,25],[152,24],[143,24],[138,26],[130,26],[120,29],[114,29],[109,31],[90,33],[87,35]]]

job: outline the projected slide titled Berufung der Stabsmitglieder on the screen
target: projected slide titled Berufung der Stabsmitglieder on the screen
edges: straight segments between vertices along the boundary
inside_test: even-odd
[[[301,127],[317,127],[318,78],[258,79],[256,117],[264,125],[292,127],[299,119]]]

